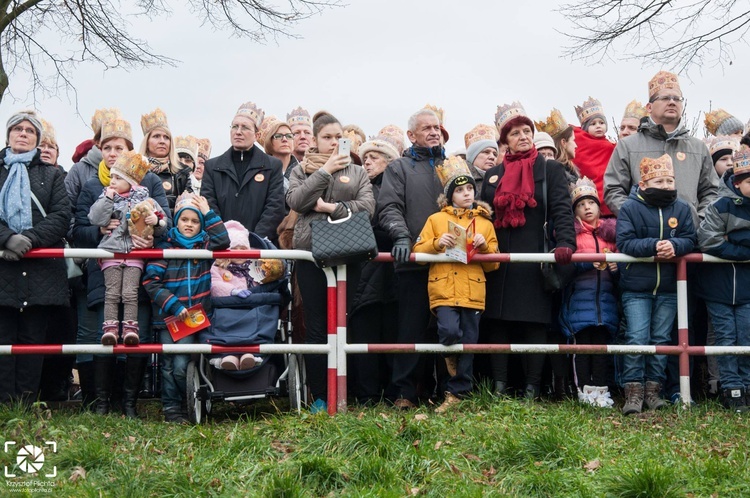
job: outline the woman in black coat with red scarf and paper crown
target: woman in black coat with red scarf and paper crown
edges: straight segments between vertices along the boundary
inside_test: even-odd
[[[500,143],[508,146],[503,162],[488,170],[481,200],[495,210],[495,230],[504,253],[544,252],[545,209],[555,261],[569,264],[576,247],[573,211],[563,166],[545,160],[534,147],[534,124],[521,104],[498,107]],[[543,187],[546,184],[546,203]],[[545,205],[546,204],[546,205]],[[486,320],[490,343],[547,342],[553,296],[545,292],[539,263],[500,265],[487,274]],[[495,392],[508,387],[508,355],[491,356]],[[525,396],[539,397],[544,355],[525,355]]]

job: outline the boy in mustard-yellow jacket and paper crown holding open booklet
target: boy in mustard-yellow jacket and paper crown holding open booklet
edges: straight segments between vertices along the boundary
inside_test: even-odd
[[[474,200],[476,183],[466,162],[450,156],[435,167],[443,194],[438,198],[441,210],[431,215],[419,234],[414,252],[444,253],[456,247],[457,236],[449,230],[453,222],[463,228],[473,222],[473,245],[479,253],[497,252],[497,236],[490,221],[492,212],[484,203]],[[485,271],[496,270],[499,263],[432,263],[427,291],[430,309],[437,317],[440,344],[476,344],[479,317],[484,311]],[[443,413],[468,394],[472,387],[474,355],[445,357],[450,378],[446,383],[445,401],[435,411]]]

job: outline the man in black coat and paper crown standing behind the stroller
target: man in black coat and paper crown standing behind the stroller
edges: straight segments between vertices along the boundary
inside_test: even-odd
[[[223,220],[237,220],[275,242],[284,217],[284,181],[281,161],[255,145],[264,116],[252,102],[240,106],[229,126],[232,146],[206,161],[201,195]]]

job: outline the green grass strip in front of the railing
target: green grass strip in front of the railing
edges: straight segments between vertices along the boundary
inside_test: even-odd
[[[433,408],[330,418],[278,400],[218,403],[207,424],[175,426],[156,402],[140,406],[141,421],[0,407],[3,443],[58,444],[42,469],[57,466],[54,478],[20,471],[20,446],[0,453],[18,474],[0,479],[0,495],[31,496],[18,483],[36,480],[75,497],[750,496],[750,416],[714,402],[623,417],[481,391],[453,412]]]

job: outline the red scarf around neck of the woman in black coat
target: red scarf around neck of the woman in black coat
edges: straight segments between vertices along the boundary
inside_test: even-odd
[[[495,190],[495,226],[522,227],[526,224],[523,210],[536,207],[534,199],[534,163],[539,153],[536,147],[520,153],[506,154],[505,173]]]

